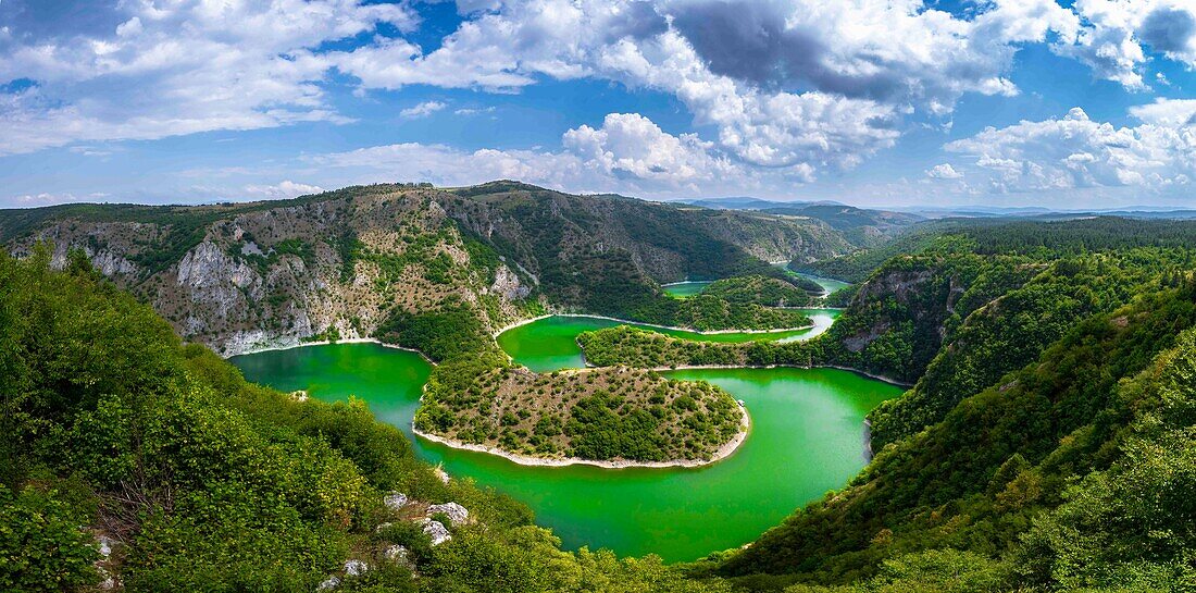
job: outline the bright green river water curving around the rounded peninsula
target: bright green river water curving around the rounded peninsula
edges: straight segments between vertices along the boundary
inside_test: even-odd
[[[828,326],[832,314],[826,313]],[[576,367],[580,355],[573,339],[603,321],[549,317],[508,331],[499,343],[530,368]],[[654,552],[666,561],[695,559],[751,541],[795,508],[842,486],[865,464],[865,415],[901,393],[836,369],[670,371],[665,375],[709,381],[744,400],[752,429],[733,455],[698,468],[527,467],[415,438],[411,418],[431,368],[413,352],[334,344],[232,362],[246,379],[279,389],[306,389],[330,401],[361,398],[379,419],[413,440],[421,459],[443,462],[452,476],[472,477],[529,504],[537,522],[553,528],[566,546]]]

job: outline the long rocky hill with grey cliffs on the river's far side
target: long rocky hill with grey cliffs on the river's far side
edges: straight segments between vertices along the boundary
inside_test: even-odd
[[[224,353],[371,335],[396,314],[462,304],[487,329],[545,307],[726,328],[761,311],[725,303],[683,310],[659,284],[742,273],[783,279],[765,260],[852,249],[818,220],[517,182],[0,212],[0,241],[13,253],[39,240],[54,243],[56,265],[83,249],[184,338]]]

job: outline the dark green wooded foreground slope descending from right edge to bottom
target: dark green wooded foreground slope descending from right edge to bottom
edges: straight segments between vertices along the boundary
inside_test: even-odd
[[[995,571],[994,591],[1182,591],[1196,546],[1194,325],[1191,280],[1078,323],[721,570],[850,582],[963,549],[980,555],[970,570]]]

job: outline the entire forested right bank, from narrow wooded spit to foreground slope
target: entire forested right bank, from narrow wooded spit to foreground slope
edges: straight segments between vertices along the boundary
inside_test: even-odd
[[[1194,271],[1196,223],[983,223],[892,256],[811,341],[626,328],[580,341],[596,364],[836,364],[916,381],[869,415],[877,454],[860,476],[719,555],[714,574],[794,593],[1189,591]]]

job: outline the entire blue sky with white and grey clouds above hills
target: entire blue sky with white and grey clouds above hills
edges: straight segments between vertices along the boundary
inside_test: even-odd
[[[1196,0],[0,0],[0,207],[1196,207]]]

